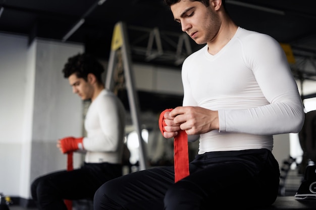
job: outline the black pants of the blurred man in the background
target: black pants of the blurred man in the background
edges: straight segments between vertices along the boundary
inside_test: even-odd
[[[36,178],[31,194],[40,210],[67,210],[64,199],[93,199],[104,182],[122,176],[122,166],[109,163],[84,163],[73,171],[58,171]]]

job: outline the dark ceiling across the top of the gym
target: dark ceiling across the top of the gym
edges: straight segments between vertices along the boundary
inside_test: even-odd
[[[294,55],[302,57],[301,63],[293,68],[303,73],[295,77],[314,79],[316,70],[313,70],[315,73],[304,72],[304,65],[307,61],[312,62],[316,55],[316,1],[226,2],[237,25],[269,34],[277,41],[291,45]],[[73,27],[83,19],[83,24],[70,35]],[[175,62],[170,54],[148,59],[144,53],[149,32],[155,27],[160,31],[164,53],[176,52],[182,32],[163,0],[0,0],[0,32],[26,34],[30,42],[39,37],[84,43],[86,52],[105,59],[109,58],[113,29],[119,21],[128,27],[133,61],[180,69],[181,62]],[[192,51],[201,47],[190,39],[189,43]],[[143,51],[136,45],[143,47]],[[296,74],[295,69],[293,72]]]

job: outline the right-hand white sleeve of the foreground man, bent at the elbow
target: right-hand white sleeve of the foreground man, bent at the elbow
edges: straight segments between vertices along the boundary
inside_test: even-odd
[[[219,110],[220,131],[264,135],[299,132],[304,122],[302,101],[280,44],[259,35],[244,46],[244,61],[270,104]]]

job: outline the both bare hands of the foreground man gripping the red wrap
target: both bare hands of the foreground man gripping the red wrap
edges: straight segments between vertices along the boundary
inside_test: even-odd
[[[188,135],[206,133],[219,129],[218,111],[202,107],[179,106],[164,114],[164,137],[171,138],[178,131],[185,130]]]

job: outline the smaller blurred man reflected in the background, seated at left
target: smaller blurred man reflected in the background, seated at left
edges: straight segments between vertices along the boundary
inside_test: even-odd
[[[91,100],[84,127],[86,137],[67,136],[58,140],[63,154],[84,152],[83,166],[72,171],[58,171],[36,178],[31,194],[38,209],[67,209],[64,199],[93,199],[104,182],[122,176],[125,138],[125,108],[120,99],[104,89],[103,66],[88,54],[68,59],[63,73],[73,93]]]

